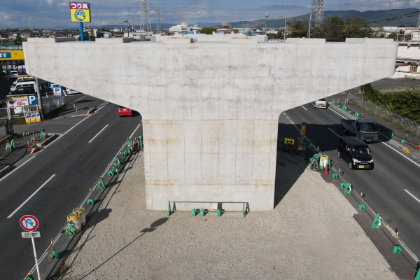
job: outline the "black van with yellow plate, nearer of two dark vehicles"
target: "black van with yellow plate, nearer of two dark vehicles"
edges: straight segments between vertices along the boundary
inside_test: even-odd
[[[357,137],[341,137],[339,139],[337,157],[343,158],[349,164],[350,169],[372,170],[374,167],[369,146]]]

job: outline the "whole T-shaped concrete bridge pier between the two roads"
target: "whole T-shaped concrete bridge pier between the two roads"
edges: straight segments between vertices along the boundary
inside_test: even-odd
[[[269,210],[280,113],[391,76],[398,44],[235,36],[28,38],[23,48],[31,75],[141,113],[148,209]]]

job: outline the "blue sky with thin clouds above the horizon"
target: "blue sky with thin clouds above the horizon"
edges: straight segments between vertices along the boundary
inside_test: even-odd
[[[70,21],[70,1],[0,0],[0,29],[3,28],[78,28]],[[141,0],[91,0],[91,26],[140,24]],[[148,1],[151,23],[190,25],[197,22],[239,22],[281,15],[294,17],[308,14],[312,0],[167,0]],[[324,0],[324,10],[388,10],[420,8],[420,0]]]

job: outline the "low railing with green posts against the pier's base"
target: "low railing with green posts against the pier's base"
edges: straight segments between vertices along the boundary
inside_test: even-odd
[[[178,210],[176,209],[176,204],[193,204],[190,205],[191,210]],[[172,204],[172,208],[171,208]],[[207,204],[208,207],[204,207],[203,205]],[[240,207],[242,204],[241,210],[225,210],[223,209],[223,204],[237,204]],[[191,208],[193,207],[193,208]],[[182,207],[186,209],[187,207]],[[228,212],[242,212],[242,216],[246,216],[249,212],[249,204],[248,202],[204,202],[204,201],[169,201],[168,202],[168,216],[171,216],[172,212],[179,211],[179,212],[191,212],[193,216],[196,216],[197,211],[200,211],[200,216],[204,216],[206,213],[209,212],[217,212],[217,216],[222,216],[223,213]]]

